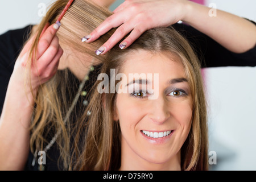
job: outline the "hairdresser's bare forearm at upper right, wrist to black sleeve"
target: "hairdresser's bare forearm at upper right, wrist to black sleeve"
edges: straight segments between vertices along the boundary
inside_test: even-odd
[[[229,51],[242,53],[256,44],[256,26],[239,16],[217,10],[210,16],[210,8],[187,2],[183,21],[210,36]]]

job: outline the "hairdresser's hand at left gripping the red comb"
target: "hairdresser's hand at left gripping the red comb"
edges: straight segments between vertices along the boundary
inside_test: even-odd
[[[24,81],[28,84],[31,81],[32,89],[36,90],[40,84],[44,84],[55,75],[60,57],[63,55],[63,49],[60,47],[59,39],[56,36],[58,28],[56,24],[52,24],[51,26],[46,25],[38,42],[36,57],[34,58],[34,55],[32,55],[31,63],[28,61],[30,48],[34,43],[36,35],[28,40],[16,60],[12,77],[19,79],[18,82],[22,82],[23,84]],[[30,64],[31,69],[26,70],[27,64]],[[24,76],[27,80],[24,80]],[[27,86],[29,88],[29,85]]]

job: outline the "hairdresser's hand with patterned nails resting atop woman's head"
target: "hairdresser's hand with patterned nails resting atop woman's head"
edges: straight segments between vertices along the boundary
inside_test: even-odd
[[[119,45],[129,47],[144,31],[154,27],[167,27],[183,19],[187,0],[126,0],[113,15],[109,16],[90,35],[87,43],[93,42],[110,29],[118,27],[112,37],[100,48],[106,53],[122,38],[129,36]],[[83,39],[85,40],[85,39]]]

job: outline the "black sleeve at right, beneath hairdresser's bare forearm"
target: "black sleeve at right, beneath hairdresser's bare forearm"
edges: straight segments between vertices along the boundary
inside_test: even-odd
[[[173,27],[187,38],[199,57],[202,68],[256,66],[256,46],[244,53],[234,53],[191,26],[176,23]]]

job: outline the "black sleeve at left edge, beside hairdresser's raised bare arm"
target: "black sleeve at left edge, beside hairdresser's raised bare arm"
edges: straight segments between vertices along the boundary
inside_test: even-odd
[[[26,42],[32,26],[19,30],[7,31],[0,35],[0,114],[2,113],[3,102],[14,64],[19,52]]]

